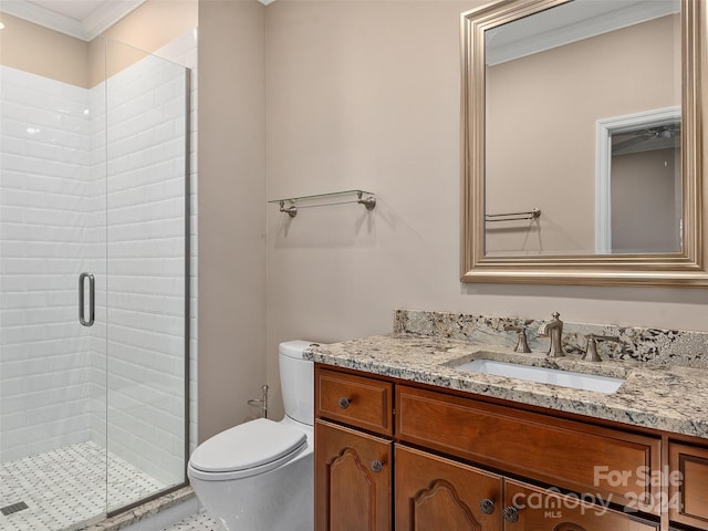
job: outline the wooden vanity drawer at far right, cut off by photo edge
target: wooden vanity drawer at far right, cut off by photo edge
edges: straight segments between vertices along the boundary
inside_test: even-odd
[[[706,529],[708,449],[669,442],[669,518]]]

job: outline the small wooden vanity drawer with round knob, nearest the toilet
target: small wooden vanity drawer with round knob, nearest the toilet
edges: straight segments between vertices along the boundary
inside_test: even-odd
[[[317,367],[316,416],[393,434],[393,384]]]

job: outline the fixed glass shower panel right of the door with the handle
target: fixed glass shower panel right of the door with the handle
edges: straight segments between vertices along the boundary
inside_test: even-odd
[[[188,71],[115,41],[106,58],[111,512],[186,479]]]

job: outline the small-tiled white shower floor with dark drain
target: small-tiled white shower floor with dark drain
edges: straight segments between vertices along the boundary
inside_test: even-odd
[[[112,508],[165,488],[111,452],[107,459]],[[0,513],[0,531],[72,529],[102,514],[106,506],[105,449],[82,442],[1,465],[0,508],[18,502],[28,508],[8,516]]]

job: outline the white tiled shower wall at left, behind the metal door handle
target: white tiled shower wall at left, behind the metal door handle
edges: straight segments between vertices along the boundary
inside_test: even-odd
[[[83,88],[0,66],[0,459],[88,438],[92,329],[77,278],[92,270]]]

